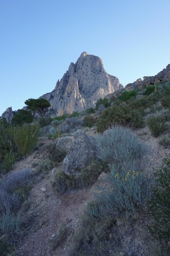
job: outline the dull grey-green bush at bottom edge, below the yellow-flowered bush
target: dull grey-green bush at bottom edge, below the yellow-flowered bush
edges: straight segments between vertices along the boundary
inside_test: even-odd
[[[73,247],[69,256],[104,256],[118,254],[122,236],[115,225],[115,219],[107,218],[97,221],[84,215],[80,220],[80,228],[74,234]]]

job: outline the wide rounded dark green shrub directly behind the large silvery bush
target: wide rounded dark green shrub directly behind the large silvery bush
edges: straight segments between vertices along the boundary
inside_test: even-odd
[[[124,103],[114,104],[104,110],[97,120],[97,132],[104,132],[113,125],[130,126],[132,128],[142,127],[144,121],[139,114]]]

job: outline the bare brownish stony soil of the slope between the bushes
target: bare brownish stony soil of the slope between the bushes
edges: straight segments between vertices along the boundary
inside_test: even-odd
[[[93,130],[89,130],[87,133],[95,136]],[[147,175],[150,176],[153,168],[159,168],[162,159],[170,155],[170,149],[164,149],[160,146],[158,138],[152,137],[147,128],[138,130],[137,134],[143,143],[149,147],[148,153],[143,159],[143,164]],[[42,160],[42,156],[38,152],[34,152],[16,162],[13,171],[21,171],[25,167],[33,169],[33,166]],[[83,213],[84,205],[93,198],[95,185],[88,189],[61,195],[51,185],[54,173],[61,169],[62,162],[46,175],[40,175],[31,189],[29,196],[31,207],[26,214],[28,217],[32,216],[34,221],[31,228],[26,230],[26,234],[17,248],[19,256],[66,256],[69,245],[73,243],[72,238],[78,227],[79,218]],[[46,191],[43,192],[42,188],[45,188]],[[62,246],[53,249],[53,240],[63,223],[68,229],[68,236]],[[141,253],[140,255],[145,254]]]

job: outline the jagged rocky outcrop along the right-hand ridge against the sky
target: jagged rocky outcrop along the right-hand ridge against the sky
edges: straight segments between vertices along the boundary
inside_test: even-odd
[[[154,85],[162,81],[170,81],[170,64],[155,76],[144,76],[144,80],[139,78],[133,83],[128,83],[125,90],[143,89],[148,85]]]

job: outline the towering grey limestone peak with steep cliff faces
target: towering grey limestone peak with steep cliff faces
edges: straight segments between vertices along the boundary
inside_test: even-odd
[[[83,52],[57,81],[55,89],[41,97],[47,99],[60,116],[94,107],[97,99],[122,89],[119,79],[106,73],[99,57]]]

